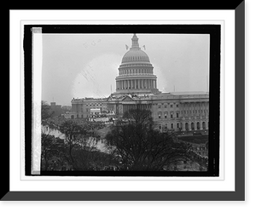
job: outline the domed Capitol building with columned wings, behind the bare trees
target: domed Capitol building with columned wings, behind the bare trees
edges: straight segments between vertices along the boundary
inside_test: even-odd
[[[209,94],[207,92],[169,92],[157,88],[157,76],[148,54],[131,37],[131,48],[125,53],[115,77],[116,89],[108,98],[73,99],[71,118],[89,118],[95,112],[113,112],[123,117],[131,109],[152,112],[157,128],[173,131],[207,130]]]

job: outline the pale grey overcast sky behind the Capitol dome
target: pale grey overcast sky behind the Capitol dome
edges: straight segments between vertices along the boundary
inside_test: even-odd
[[[43,34],[42,100],[108,97],[133,34]],[[207,91],[209,35],[137,34],[162,92]],[[145,48],[143,48],[145,45]],[[209,82],[209,81],[208,81]],[[209,85],[209,83],[208,83]]]

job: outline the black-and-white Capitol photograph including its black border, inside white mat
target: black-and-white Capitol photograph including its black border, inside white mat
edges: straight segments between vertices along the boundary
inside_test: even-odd
[[[26,175],[218,176],[219,37],[218,25],[25,27]]]

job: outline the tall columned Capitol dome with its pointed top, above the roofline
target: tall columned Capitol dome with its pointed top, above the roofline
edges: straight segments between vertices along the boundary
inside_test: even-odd
[[[159,93],[153,69],[148,54],[139,47],[137,35],[134,34],[131,48],[125,53],[119,66],[119,76],[115,78],[115,94]]]

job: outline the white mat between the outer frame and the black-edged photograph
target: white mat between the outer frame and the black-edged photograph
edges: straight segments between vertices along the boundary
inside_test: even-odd
[[[71,13],[71,20],[66,20],[67,11],[63,14],[63,11],[55,11],[58,14],[58,20],[55,20],[52,12],[48,11],[11,11],[13,13],[13,22],[11,22],[11,29],[17,32],[17,22],[19,20],[19,28],[24,23],[30,24],[183,24],[187,22],[189,24],[220,24],[224,29],[222,34],[222,45],[221,50],[224,52],[222,54],[221,60],[221,120],[220,120],[220,177],[219,178],[196,178],[191,180],[190,178],[171,178],[170,180],[157,178],[157,180],[152,180],[152,178],[145,180],[143,179],[133,179],[131,178],[121,178],[116,177],[50,177],[47,180],[42,176],[37,176],[35,180],[32,176],[25,176],[22,173],[22,169],[19,167],[18,163],[21,159],[20,155],[23,148],[20,146],[20,152],[17,149],[14,150],[15,140],[10,138],[10,191],[235,191],[235,12],[232,10],[208,10],[206,11],[183,11],[174,10],[172,13],[163,13],[163,11],[154,11],[158,17],[156,20],[151,20],[152,12],[150,11],[122,11],[121,13],[117,11],[112,14],[112,11],[89,11],[83,15],[78,13],[78,11],[68,11]],[[140,13],[138,13],[140,12]],[[150,12],[150,13],[149,13]],[[166,11],[167,12],[167,11]],[[125,20],[126,14],[131,14],[133,16],[132,20]],[[142,15],[143,13],[143,15]],[[47,15],[46,15],[47,14]],[[114,15],[115,14],[115,15]],[[84,20],[78,20],[78,17],[84,17]],[[103,20],[101,17],[108,17],[108,19]],[[107,16],[106,16],[107,15]],[[90,18],[91,17],[91,18]],[[119,17],[119,18],[117,18]],[[143,20],[140,20],[143,17]],[[18,29],[19,29],[18,28]],[[20,30],[21,32],[21,30]],[[11,83],[15,83],[15,89],[20,90],[21,88],[21,98],[20,108],[24,108],[22,105],[22,70],[19,66],[21,64],[19,53],[14,53],[14,50],[22,44],[22,39],[19,40],[19,33],[11,33],[11,41],[16,42],[17,45],[13,43],[10,45],[11,49],[11,60],[15,60],[15,67],[10,66],[11,74],[15,74],[14,70],[20,70],[20,82],[13,79],[10,75]],[[18,35],[18,37],[17,37]],[[228,37],[228,38],[227,38]],[[22,47],[20,47],[22,49]],[[21,54],[21,52],[20,52]],[[17,61],[18,59],[18,61]],[[223,72],[224,70],[224,72]],[[227,80],[229,79],[229,80]],[[19,93],[19,92],[18,92]],[[15,93],[13,94],[15,97]],[[16,96],[17,97],[17,96]],[[227,110],[228,108],[228,110]],[[10,104],[10,109],[12,104]],[[11,118],[11,126],[18,127],[20,132],[20,143],[24,139],[24,132],[22,132],[22,112],[20,114],[20,126],[17,123],[13,124],[14,120]],[[15,128],[16,129],[16,128]],[[224,129],[224,130],[223,130]],[[12,135],[12,134],[11,134]],[[19,135],[19,134],[17,134]],[[15,136],[15,135],[12,135]],[[224,140],[224,142],[222,142]],[[223,144],[223,145],[222,145]],[[229,152],[227,152],[229,149]],[[224,161],[222,161],[224,158]],[[228,164],[228,165],[227,165]],[[17,169],[18,168],[18,169]],[[20,170],[20,173],[19,173]],[[17,177],[18,176],[18,177]],[[40,183],[38,183],[40,180]],[[81,181],[83,185],[81,186]],[[209,183],[210,182],[210,183]]]

